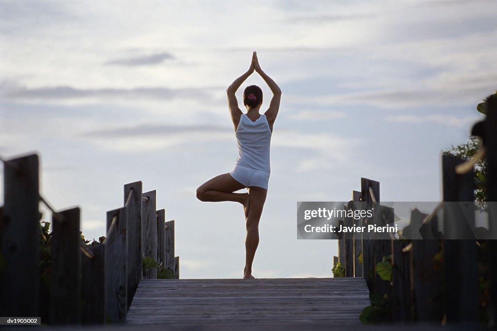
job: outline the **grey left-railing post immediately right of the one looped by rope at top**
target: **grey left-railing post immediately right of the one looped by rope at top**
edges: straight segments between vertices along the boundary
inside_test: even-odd
[[[156,217],[156,191],[142,194],[142,243],[143,254],[157,261],[157,217]],[[143,278],[157,278],[157,269],[143,270]]]

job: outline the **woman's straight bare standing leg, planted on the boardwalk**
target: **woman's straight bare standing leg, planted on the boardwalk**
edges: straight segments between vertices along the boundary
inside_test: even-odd
[[[252,276],[252,262],[259,245],[259,220],[266,201],[267,190],[259,187],[248,188],[250,209],[246,217],[247,237],[245,239],[245,268],[244,278]]]

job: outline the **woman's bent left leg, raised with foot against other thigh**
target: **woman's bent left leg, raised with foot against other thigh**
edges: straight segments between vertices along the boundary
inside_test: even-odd
[[[244,189],[245,186],[236,181],[229,173],[216,176],[197,189],[197,199],[200,201],[235,201],[240,202],[246,209],[248,206],[247,193],[233,193]]]

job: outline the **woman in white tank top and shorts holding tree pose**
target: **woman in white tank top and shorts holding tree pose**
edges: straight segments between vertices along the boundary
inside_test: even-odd
[[[260,114],[262,90],[256,85],[244,91],[244,105],[247,113],[238,107],[235,92],[253,72],[257,72],[267,83],[273,97],[269,108]],[[274,120],[278,115],[281,89],[259,66],[257,53],[252,54],[252,63],[247,72],[235,79],[226,90],[231,119],[235,126],[238,145],[238,158],[232,172],[214,177],[197,189],[201,201],[235,201],[244,207],[247,237],[245,240],[244,278],[252,276],[252,262],[259,244],[259,220],[266,200],[269,180],[269,145]],[[248,193],[234,193],[247,188]]]

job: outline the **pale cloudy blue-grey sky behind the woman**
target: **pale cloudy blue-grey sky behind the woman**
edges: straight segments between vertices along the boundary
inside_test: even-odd
[[[467,141],[497,88],[496,10],[494,0],[0,0],[0,155],[39,153],[42,195],[80,206],[87,239],[141,180],[175,220],[181,278],[242,277],[242,206],[195,190],[233,169],[226,88],[257,51],[283,93],[253,275],[330,277],[337,243],[297,240],[297,202],[348,201],[361,177],[380,182],[383,201],[439,201],[440,152]],[[256,74],[239,100],[250,84],[264,109],[271,94]]]

